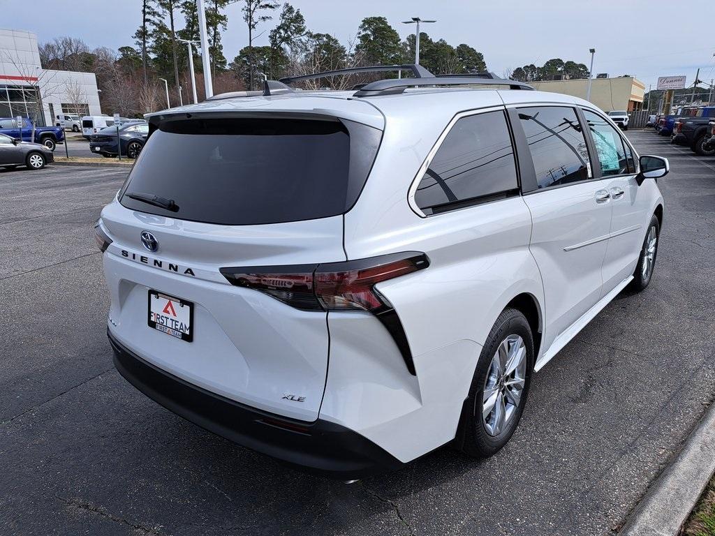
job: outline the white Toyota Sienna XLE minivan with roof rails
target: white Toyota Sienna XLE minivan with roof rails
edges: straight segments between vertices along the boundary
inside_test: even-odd
[[[648,286],[666,159],[583,99],[407,68],[149,114],[95,224],[129,382],[343,480],[489,456],[533,373]]]

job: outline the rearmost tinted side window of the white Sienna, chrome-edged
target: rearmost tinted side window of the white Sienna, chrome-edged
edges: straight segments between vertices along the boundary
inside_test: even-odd
[[[420,181],[415,203],[434,214],[517,188],[506,117],[490,111],[454,124]]]

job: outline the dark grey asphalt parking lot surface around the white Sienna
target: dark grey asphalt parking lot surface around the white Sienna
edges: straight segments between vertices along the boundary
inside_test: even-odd
[[[126,170],[0,171],[0,534],[618,530],[715,398],[715,159],[626,134],[671,162],[650,287],[536,374],[495,457],[443,448],[353,485],[232,445],[114,370],[92,223]]]

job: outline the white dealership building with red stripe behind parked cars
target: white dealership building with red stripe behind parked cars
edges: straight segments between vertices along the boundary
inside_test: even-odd
[[[55,124],[57,114],[101,115],[97,78],[42,69],[36,34],[0,29],[0,117],[36,112],[40,126]]]

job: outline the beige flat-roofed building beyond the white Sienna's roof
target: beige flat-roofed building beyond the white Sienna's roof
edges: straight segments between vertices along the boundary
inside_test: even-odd
[[[530,82],[538,91],[551,91],[586,99],[588,79]],[[603,111],[640,110],[646,86],[632,76],[594,78],[591,81],[591,102]]]

